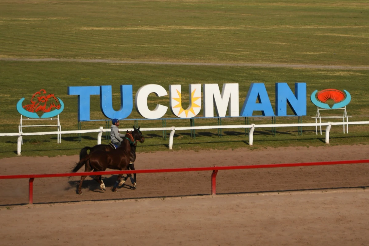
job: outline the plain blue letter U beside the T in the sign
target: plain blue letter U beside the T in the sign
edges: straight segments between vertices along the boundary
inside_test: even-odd
[[[133,109],[132,85],[120,86],[120,109],[113,109],[113,99],[111,97],[111,85],[100,86],[100,108],[101,112],[109,119],[127,118]]]

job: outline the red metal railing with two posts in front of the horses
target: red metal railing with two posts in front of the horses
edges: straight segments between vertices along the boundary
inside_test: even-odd
[[[324,165],[342,165],[342,164],[360,164],[369,163],[367,160],[354,161],[326,161],[326,162],[304,162],[304,163],[289,163],[289,164],[267,164],[267,165],[247,165],[247,166],[213,166],[204,168],[170,168],[170,169],[145,169],[145,170],[130,170],[130,171],[106,171],[106,172],[80,172],[80,173],[50,173],[50,174],[25,174],[25,175],[3,175],[0,179],[29,179],[28,201],[33,203],[33,181],[35,178],[58,178],[71,176],[95,176],[95,175],[118,175],[127,173],[163,173],[163,172],[199,172],[213,171],[211,174],[211,194],[215,195],[216,177],[220,170],[235,170],[235,169],[258,169],[258,168],[285,168],[295,166],[324,166]]]

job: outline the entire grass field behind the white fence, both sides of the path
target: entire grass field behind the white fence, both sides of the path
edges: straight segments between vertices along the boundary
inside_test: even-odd
[[[60,115],[63,130],[77,129],[77,97],[67,86],[112,85],[114,108],[119,108],[119,85],[132,84],[134,95],[145,84],[181,84],[184,97],[191,83],[239,83],[240,106],[252,82],[266,84],[274,106],[275,82],[306,82],[307,94],[315,89],[346,89],[352,95],[347,106],[351,121],[369,116],[368,1],[0,1],[0,132],[17,132],[17,101],[39,89],[55,93],[65,103]],[[5,61],[4,59],[14,59]],[[258,63],[250,66],[189,66],[163,64],[83,63],[63,61],[17,61],[34,59],[111,59],[195,63]],[[262,67],[262,64],[299,64],[301,67]],[[361,66],[354,69],[304,68],[304,65]],[[169,96],[150,96],[149,107],[169,106]],[[313,122],[316,108],[307,99],[307,116]],[[91,119],[104,119],[99,97],[92,96]],[[183,108],[186,108],[183,103]],[[201,112],[202,113],[202,112]],[[133,110],[130,118],[141,117]],[[165,117],[173,117],[168,110]],[[277,123],[297,123],[278,118]],[[240,119],[224,124],[242,124]],[[270,118],[250,119],[270,123]],[[124,123],[131,126],[132,121]],[[141,127],[162,126],[161,121],[140,121]],[[197,120],[196,125],[217,124],[216,119]],[[167,126],[189,126],[172,120]],[[83,129],[105,123],[83,123]],[[34,129],[32,129],[34,130]],[[37,129],[51,130],[51,129]],[[255,133],[254,146],[241,130],[176,132],[174,150],[203,148],[259,148],[325,145],[315,128],[265,129]],[[26,129],[25,132],[31,131]],[[350,126],[349,134],[333,127],[331,144],[367,144],[369,127]],[[139,151],[167,150],[161,132],[147,133]],[[77,154],[96,143],[97,134],[25,137],[22,155]],[[0,157],[15,156],[16,138],[0,138]]]

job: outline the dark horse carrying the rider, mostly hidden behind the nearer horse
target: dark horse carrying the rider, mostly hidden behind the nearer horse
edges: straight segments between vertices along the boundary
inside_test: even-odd
[[[138,131],[138,133],[141,135],[141,144],[144,143],[145,138],[142,135],[142,132],[139,130],[140,127],[136,128],[133,126],[134,132]],[[135,164],[134,162],[136,161],[136,148],[137,146],[135,145],[131,145],[131,157],[130,157],[130,165],[128,165],[128,169],[130,170],[135,170]],[[88,147],[86,146],[85,148],[83,148],[80,152],[79,152],[79,160],[82,160],[83,158],[85,158],[88,154],[87,154],[87,150],[90,150],[90,154],[95,152],[95,151],[112,151],[115,148],[111,145],[111,144],[98,144],[95,145],[94,147]],[[127,177],[124,178],[123,183],[125,183],[125,181],[127,181],[127,179],[131,178],[131,182],[133,185],[133,189],[136,189],[137,187],[137,179],[136,179],[136,173],[133,174],[133,178],[132,176],[127,175]]]

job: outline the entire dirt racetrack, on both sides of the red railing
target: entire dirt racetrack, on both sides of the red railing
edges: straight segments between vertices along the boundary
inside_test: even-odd
[[[4,158],[0,175],[69,172],[77,159]],[[369,145],[140,153],[135,166],[351,159],[369,159]],[[369,164],[220,171],[214,197],[198,196],[210,194],[211,172],[140,174],[137,190],[117,193],[116,176],[103,178],[105,192],[89,177],[82,196],[79,178],[44,178],[34,182],[39,204],[23,206],[13,205],[27,203],[28,180],[0,180],[0,245],[369,245],[368,171]]]

